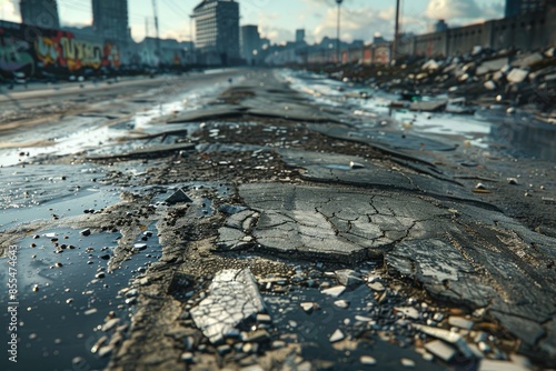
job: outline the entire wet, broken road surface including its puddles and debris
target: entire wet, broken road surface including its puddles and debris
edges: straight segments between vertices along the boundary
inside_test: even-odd
[[[554,367],[554,128],[395,99],[287,70],[4,93],[2,369]]]

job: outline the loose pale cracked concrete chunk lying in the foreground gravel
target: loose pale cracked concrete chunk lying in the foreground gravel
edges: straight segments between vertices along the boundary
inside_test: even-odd
[[[219,343],[249,318],[265,310],[262,298],[249,269],[218,272],[208,295],[191,309],[191,318],[210,342]]]

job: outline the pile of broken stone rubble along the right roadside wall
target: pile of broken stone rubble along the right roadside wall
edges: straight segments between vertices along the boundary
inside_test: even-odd
[[[315,70],[315,69],[314,69]],[[418,101],[423,96],[465,98],[468,104],[504,104],[538,111],[556,122],[555,48],[535,52],[474,53],[438,59],[411,58],[393,66],[328,66],[318,71],[336,79],[399,93]]]

